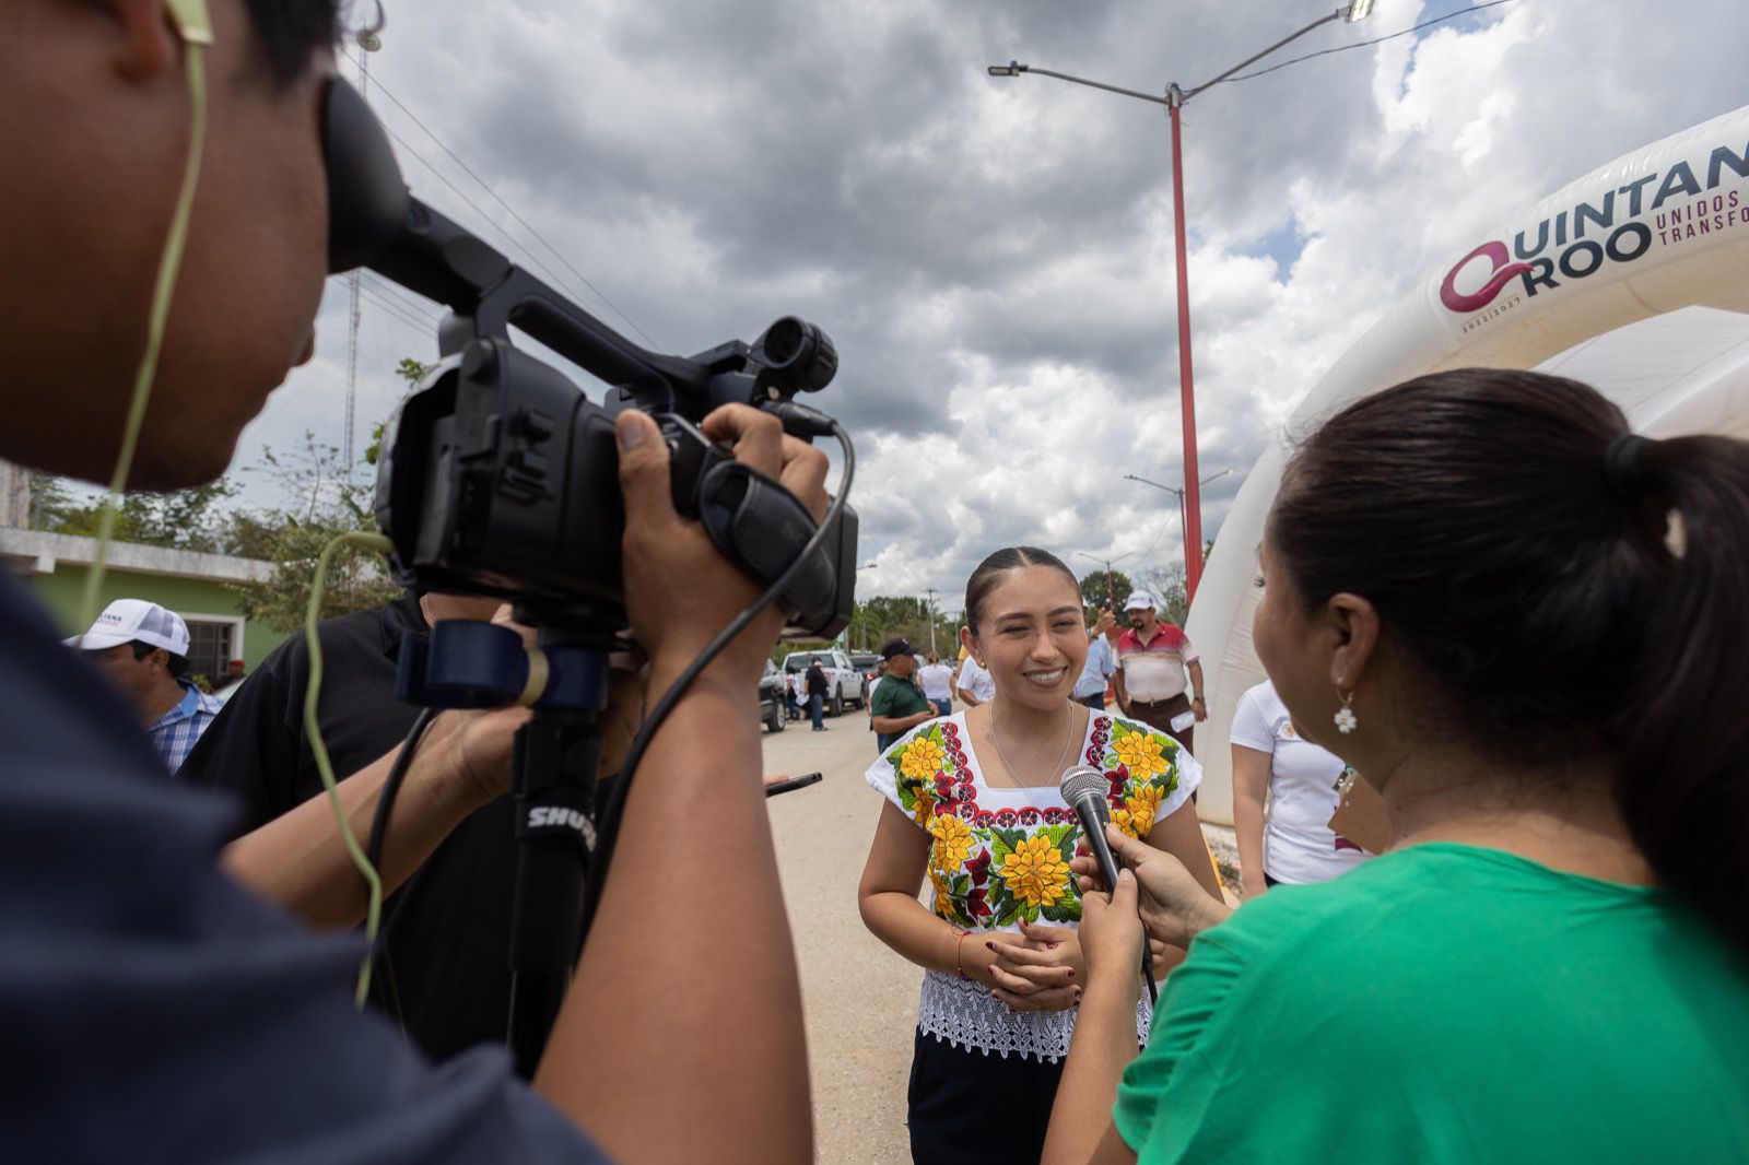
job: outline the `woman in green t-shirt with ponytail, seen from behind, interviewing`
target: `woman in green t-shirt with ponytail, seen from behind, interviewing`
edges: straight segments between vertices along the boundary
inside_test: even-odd
[[[1424,376],[1298,451],[1259,586],[1396,847],[1226,918],[1116,836],[1046,1160],[1749,1160],[1749,444]],[[1195,936],[1139,1058],[1137,908]]]

